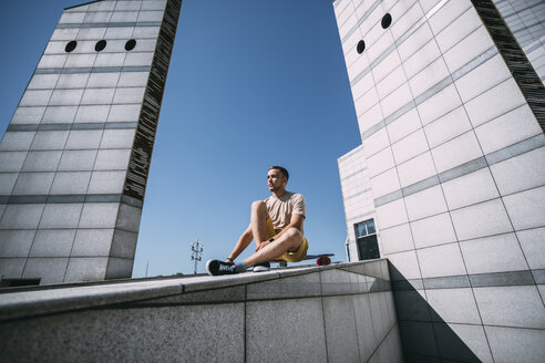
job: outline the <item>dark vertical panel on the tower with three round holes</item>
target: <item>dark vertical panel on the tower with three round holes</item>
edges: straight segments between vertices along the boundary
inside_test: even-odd
[[[144,200],[161,102],[165,90],[166,74],[171,62],[181,8],[182,0],[168,0],[166,3],[138,118],[138,126],[136,127],[136,135],[128,160],[128,170],[123,194],[138,200]]]

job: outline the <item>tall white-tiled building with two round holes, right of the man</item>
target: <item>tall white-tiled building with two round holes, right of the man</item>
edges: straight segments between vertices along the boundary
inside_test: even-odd
[[[349,260],[387,257],[405,359],[545,356],[545,2],[333,2],[361,146]]]

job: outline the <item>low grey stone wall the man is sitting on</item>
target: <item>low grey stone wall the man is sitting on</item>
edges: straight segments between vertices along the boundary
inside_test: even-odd
[[[10,362],[402,362],[385,260],[0,295]]]

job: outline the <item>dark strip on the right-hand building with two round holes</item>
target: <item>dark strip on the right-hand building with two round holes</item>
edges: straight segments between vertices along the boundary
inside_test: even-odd
[[[545,132],[545,87],[492,0],[471,0]]]

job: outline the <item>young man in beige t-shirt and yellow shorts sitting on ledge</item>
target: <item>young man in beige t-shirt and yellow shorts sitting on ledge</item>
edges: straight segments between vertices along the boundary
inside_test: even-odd
[[[298,262],[307,256],[308,241],[302,235],[306,217],[305,198],[286,190],[289,174],[281,166],[271,166],[267,185],[272,195],[251,204],[248,228],[238,239],[229,257],[224,261],[208,260],[206,270],[212,276],[233,274],[254,267],[254,271],[267,271],[269,261]],[[244,261],[235,259],[256,241],[255,253]]]

